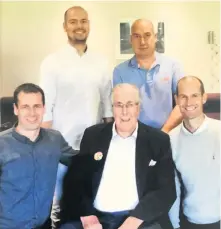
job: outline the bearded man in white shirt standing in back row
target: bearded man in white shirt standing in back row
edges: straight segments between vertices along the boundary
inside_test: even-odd
[[[63,26],[68,43],[41,65],[40,85],[46,96],[42,126],[59,130],[77,154],[87,127],[101,123],[102,118],[112,120],[111,79],[108,61],[92,53],[86,44],[90,30],[87,12],[79,6],[69,8]],[[59,222],[61,183],[66,170],[66,166],[59,165],[51,216],[54,222]]]

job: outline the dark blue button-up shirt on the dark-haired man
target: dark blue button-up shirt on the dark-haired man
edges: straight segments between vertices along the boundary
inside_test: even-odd
[[[32,142],[14,128],[0,133],[0,228],[31,229],[50,214],[61,155],[73,150],[55,130]]]

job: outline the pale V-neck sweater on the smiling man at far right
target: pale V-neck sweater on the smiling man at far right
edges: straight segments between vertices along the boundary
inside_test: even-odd
[[[170,132],[173,160],[185,186],[183,212],[189,222],[210,224],[220,220],[220,121],[205,117],[194,133],[183,125]],[[180,182],[177,200],[170,210],[179,227]]]

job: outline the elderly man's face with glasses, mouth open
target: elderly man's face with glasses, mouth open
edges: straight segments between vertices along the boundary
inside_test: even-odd
[[[113,93],[113,114],[117,132],[133,133],[136,129],[140,105],[132,86],[119,87]]]

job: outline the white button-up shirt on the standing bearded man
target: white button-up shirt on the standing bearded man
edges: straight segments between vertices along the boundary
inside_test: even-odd
[[[46,96],[44,121],[52,120],[75,150],[87,127],[112,117],[108,62],[101,55],[87,50],[79,56],[67,44],[43,61],[40,86]]]

